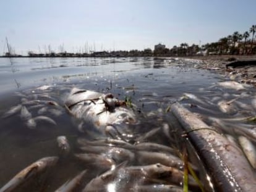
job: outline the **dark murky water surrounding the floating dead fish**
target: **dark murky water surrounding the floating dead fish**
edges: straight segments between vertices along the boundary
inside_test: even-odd
[[[237,91],[232,92],[232,90],[217,86],[216,83],[224,77],[205,70],[194,69],[192,67],[194,64],[196,64],[195,61],[151,57],[1,58],[0,116],[22,101],[36,99],[45,101],[43,102],[45,106],[48,101],[55,101],[63,106],[67,94],[73,87],[100,93],[113,93],[119,99],[130,98],[137,106],[135,110],[142,123],[136,129],[136,138],[132,138],[130,143],[134,144],[140,136],[143,137],[150,130],[161,128],[164,123],[167,123],[173,129],[171,133],[175,135],[174,141],[169,140],[163,131],[156,131],[156,134],[148,136],[145,141],[172,146],[180,150],[184,148],[181,144],[184,141],[179,138],[179,131],[177,131],[179,124],[171,113],[166,112],[173,102],[179,100],[190,111],[203,114],[206,121],[213,123],[214,119],[208,117],[218,119],[219,117],[229,118],[233,115],[221,112],[218,102],[239,97],[239,100],[236,100],[236,107],[240,107],[242,111],[245,107],[242,104],[251,106],[248,98],[252,99],[254,96],[252,88],[246,88],[237,93]],[[43,85],[47,87],[41,90],[36,89]],[[184,93],[188,94],[184,96]],[[193,96],[198,96],[198,98],[193,98]],[[56,143],[59,135],[65,135],[69,140],[71,146],[69,156],[61,156],[54,167],[54,172],[39,177],[36,183],[30,179],[29,184],[22,186],[21,191],[28,189],[30,191],[54,191],[68,179],[77,175],[79,171],[87,169],[89,173],[83,184],[85,186],[86,182],[103,172],[98,165],[86,164],[74,157],[75,153],[81,152],[77,138],[85,137],[92,140],[92,136],[85,135],[77,129],[77,123],[64,107],[58,109],[59,113],[56,114],[53,111],[39,112],[44,106],[33,106],[35,104],[27,104],[32,117],[46,115],[57,125],[42,121],[37,123],[36,128],[30,129],[20,118],[20,113],[1,119],[0,187],[32,162],[46,156],[59,156],[60,149]],[[47,107],[51,108],[49,105]],[[253,107],[245,112],[255,115]],[[244,114],[237,114],[237,112],[235,114],[237,118],[244,117],[241,116]],[[227,129],[221,131],[234,135],[233,131]],[[194,157],[191,156],[189,159],[197,164]],[[146,164],[147,162],[144,163]],[[142,163],[134,161],[131,165],[142,165]],[[204,181],[205,175],[203,172],[200,174],[206,189],[209,190],[208,184]]]

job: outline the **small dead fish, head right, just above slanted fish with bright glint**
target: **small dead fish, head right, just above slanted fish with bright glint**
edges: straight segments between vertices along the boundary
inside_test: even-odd
[[[100,167],[100,169],[108,170],[113,167],[116,163],[113,159],[103,156],[101,154],[93,154],[93,153],[85,153],[85,154],[75,154],[75,157],[80,159],[89,165],[95,165],[96,167]]]

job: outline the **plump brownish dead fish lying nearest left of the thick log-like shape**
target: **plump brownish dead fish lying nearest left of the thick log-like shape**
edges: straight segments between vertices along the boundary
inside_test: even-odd
[[[137,161],[140,164],[156,164],[160,163],[169,167],[183,169],[183,161],[179,157],[163,152],[137,151]]]

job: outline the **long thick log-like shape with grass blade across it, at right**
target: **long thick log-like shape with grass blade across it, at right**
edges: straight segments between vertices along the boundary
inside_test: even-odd
[[[241,149],[181,104],[171,107],[218,191],[255,191],[255,172]]]

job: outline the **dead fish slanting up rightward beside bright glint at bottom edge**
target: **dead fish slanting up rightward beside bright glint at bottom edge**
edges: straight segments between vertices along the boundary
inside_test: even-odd
[[[127,177],[127,175],[118,174],[119,170],[126,167],[126,164],[127,164],[127,162],[122,162],[121,164],[119,164],[117,166],[113,166],[112,169],[106,171],[105,173],[99,175],[98,177],[93,178],[85,186],[85,188],[82,190],[82,192],[110,191],[110,190],[108,190],[108,188],[109,188],[109,186],[111,186],[111,184],[112,184],[111,182],[114,182],[115,179],[121,180],[121,179]],[[114,190],[114,191],[116,191],[116,190]]]

